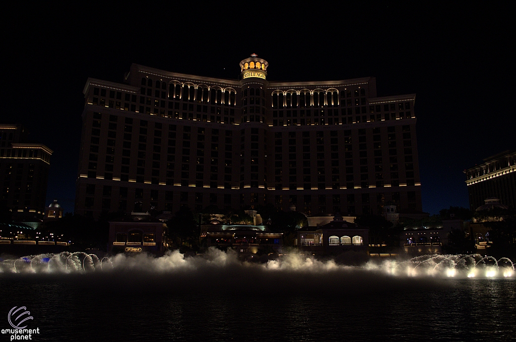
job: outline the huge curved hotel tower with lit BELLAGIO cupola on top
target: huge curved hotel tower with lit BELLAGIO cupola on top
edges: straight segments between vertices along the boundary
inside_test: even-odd
[[[75,211],[422,209],[414,94],[378,97],[374,77],[269,82],[255,54],[239,67],[238,79],[138,64],[123,84],[89,78]]]

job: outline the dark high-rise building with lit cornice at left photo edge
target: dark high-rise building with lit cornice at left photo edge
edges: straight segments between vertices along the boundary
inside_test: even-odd
[[[53,151],[26,142],[22,125],[0,124],[0,180],[3,205],[13,214],[43,214]]]

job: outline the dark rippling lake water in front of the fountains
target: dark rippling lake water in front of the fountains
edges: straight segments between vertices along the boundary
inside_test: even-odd
[[[27,329],[40,330],[32,336],[36,341],[505,341],[516,336],[514,276],[394,276],[313,260],[270,268],[236,260],[162,261],[123,259],[114,264],[125,267],[89,274],[0,273],[0,317],[5,317],[0,329],[10,329],[12,307],[26,306],[34,317]]]

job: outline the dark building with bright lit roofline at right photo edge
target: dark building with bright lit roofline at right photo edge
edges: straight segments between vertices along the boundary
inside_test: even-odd
[[[483,161],[464,171],[470,209],[476,210],[493,197],[516,208],[516,151],[507,150]]]

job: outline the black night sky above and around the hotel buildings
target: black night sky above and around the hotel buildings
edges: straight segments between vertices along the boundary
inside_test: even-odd
[[[415,93],[423,210],[468,207],[462,171],[516,148],[512,10],[353,3],[11,5],[0,123],[23,124],[54,151],[46,205],[73,211],[88,77],[122,83],[138,63],[236,79],[256,53],[269,80],[373,76],[378,96]]]

